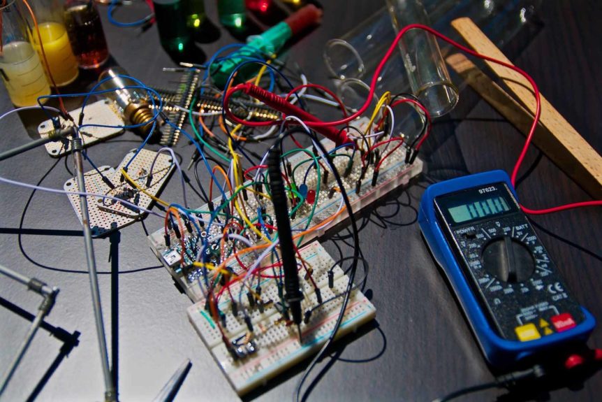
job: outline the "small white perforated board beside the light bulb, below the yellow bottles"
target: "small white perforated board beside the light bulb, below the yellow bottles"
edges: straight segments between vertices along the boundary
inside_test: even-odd
[[[69,115],[73,117],[76,122],[80,118],[80,112],[82,108],[72,110]],[[108,138],[112,138],[121,134],[124,129],[124,120],[117,114],[114,108],[112,108],[112,102],[109,100],[96,101],[86,106],[84,110],[84,121],[83,124],[101,124],[103,126],[115,126],[115,127],[84,127],[80,130],[82,137],[82,143],[84,148],[94,145],[99,141],[105,141]],[[73,126],[73,122],[64,120],[59,117],[61,127]],[[38,133],[42,138],[47,137],[54,130],[52,120],[45,120],[38,125]],[[53,141],[45,144],[46,151],[51,157],[61,157],[68,152],[71,152],[71,143],[68,141],[60,142]]]

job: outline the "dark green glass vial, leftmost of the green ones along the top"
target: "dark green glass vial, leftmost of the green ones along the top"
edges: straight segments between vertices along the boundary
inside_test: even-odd
[[[187,0],[153,0],[161,45],[169,53],[189,49],[191,34],[186,27]]]

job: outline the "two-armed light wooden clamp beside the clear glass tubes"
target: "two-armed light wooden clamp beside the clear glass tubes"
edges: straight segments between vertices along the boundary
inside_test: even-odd
[[[476,52],[511,64],[504,53],[469,18],[453,20],[452,27]],[[531,85],[523,76],[499,64],[486,62],[521,104],[463,55],[451,55],[447,57],[447,62],[480,96],[483,96],[485,101],[496,108],[517,129],[527,134],[533,122],[535,98],[531,92]],[[595,199],[602,199],[602,157],[543,95],[541,95],[540,124],[533,141],[589,195]]]

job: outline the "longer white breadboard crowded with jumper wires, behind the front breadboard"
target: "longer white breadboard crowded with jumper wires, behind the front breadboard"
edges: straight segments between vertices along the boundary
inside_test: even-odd
[[[323,143],[324,148],[326,150],[332,150],[335,145],[332,141],[328,139],[324,139],[321,141]],[[395,144],[392,144],[389,150],[392,150],[395,147]],[[336,152],[338,155],[344,154],[351,156],[352,150],[350,149],[340,149]],[[374,164],[370,165],[367,173],[365,173],[364,178],[361,180],[362,185],[360,186],[360,191],[357,191],[357,182],[361,175],[362,164],[360,161],[360,152],[356,152],[355,157],[353,159],[353,168],[351,172],[346,176],[342,177],[342,181],[344,183],[344,187],[349,196],[349,201],[351,201],[351,206],[353,208],[353,213],[359,213],[362,208],[369,206],[371,203],[383,197],[388,192],[391,192],[393,189],[406,185],[409,180],[416,175],[420,174],[423,171],[423,162],[420,159],[416,159],[413,164],[405,163],[406,157],[406,149],[404,147],[398,148],[390,157],[385,159],[380,168],[380,173],[378,176],[378,180],[374,186],[372,186],[372,172],[374,171]],[[304,152],[298,152],[292,157],[288,158],[288,161],[291,162],[292,166],[300,163],[308,159],[307,154]],[[333,159],[333,163],[337,167],[337,171],[341,175],[343,175],[346,170],[347,163],[349,161],[349,157],[335,157]],[[294,173],[295,181],[305,182],[309,189],[317,189],[318,185],[318,175],[316,173],[316,169],[311,168],[309,173],[307,174],[307,178],[305,178],[305,172],[307,168],[305,166],[309,166],[309,163],[303,165],[303,168],[298,168]],[[313,216],[311,215],[312,206],[308,203],[304,203],[295,214],[295,217],[291,217],[291,227],[293,231],[295,229],[305,229],[305,227],[317,227],[322,222],[328,220],[332,215],[337,213],[339,210],[339,206],[342,205],[342,197],[339,192],[334,191],[334,187],[337,187],[337,182],[335,181],[334,175],[330,173],[328,175],[328,180],[326,183],[320,181],[320,192],[316,195],[316,208],[314,210]],[[317,192],[316,192],[317,194]],[[229,196],[229,193],[226,193]],[[245,208],[249,211],[249,219],[254,220],[260,206],[258,200],[255,198],[251,192],[249,192],[249,196],[247,197],[247,201],[245,201]],[[219,205],[221,202],[221,197],[214,199],[215,205]],[[272,203],[264,202],[265,210],[267,215],[274,216]],[[290,201],[289,201],[290,203]],[[209,208],[207,205],[204,205],[199,208],[199,210],[207,211],[207,215],[209,216]],[[231,210],[233,216],[239,217],[236,210]],[[308,222],[311,217],[311,221]],[[307,244],[309,241],[322,236],[325,231],[327,231],[330,227],[335,224],[342,222],[348,217],[347,211],[339,214],[335,219],[331,220],[330,223],[319,227],[317,230],[312,231],[310,234],[304,236],[302,245]],[[205,230],[205,229],[204,229]],[[184,292],[190,297],[190,299],[194,302],[199,301],[203,297],[203,293],[200,290],[198,285],[198,275],[196,273],[184,273],[180,267],[181,262],[181,250],[180,250],[180,241],[175,237],[173,231],[170,232],[170,247],[166,247],[165,238],[164,238],[163,229],[159,229],[155,231],[153,234],[149,235],[149,242],[151,244],[152,250],[154,250],[156,256],[159,258],[161,263],[166,266],[170,274],[175,278],[176,282],[184,289]],[[203,232],[204,238],[213,238],[214,236],[219,236],[221,234],[221,227],[219,225],[214,224],[210,229],[209,233]],[[294,233],[294,232],[293,232]],[[190,250],[194,249],[200,240],[198,236],[194,234],[186,234],[185,243],[187,248]],[[254,238],[255,234],[249,234],[249,238],[252,241],[260,241],[258,238]],[[189,247],[188,245],[191,246]],[[185,253],[188,254],[188,253]],[[191,250],[192,255],[196,255],[196,250]],[[186,261],[187,264],[191,263],[191,261]]]

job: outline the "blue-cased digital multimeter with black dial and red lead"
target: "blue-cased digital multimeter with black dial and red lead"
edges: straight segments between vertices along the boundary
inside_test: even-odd
[[[596,321],[571,298],[504,171],[430,185],[418,223],[492,366],[566,343]]]

